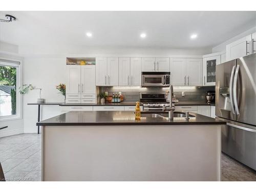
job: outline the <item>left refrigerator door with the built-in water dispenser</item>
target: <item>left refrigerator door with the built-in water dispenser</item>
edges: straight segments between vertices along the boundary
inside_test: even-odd
[[[216,66],[216,116],[235,120],[233,104],[233,80],[236,72],[236,60]]]

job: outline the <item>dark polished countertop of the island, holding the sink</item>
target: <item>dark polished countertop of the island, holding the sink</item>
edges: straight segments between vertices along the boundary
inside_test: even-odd
[[[147,112],[148,113],[148,112]],[[163,113],[163,112],[158,112]],[[166,113],[166,112],[165,112]],[[50,119],[37,122],[40,126],[79,126],[79,125],[192,125],[192,124],[226,124],[214,118],[190,113],[195,117],[186,120],[184,117],[177,117],[173,120],[168,118],[143,117],[135,120],[132,111],[72,111],[61,114]]]

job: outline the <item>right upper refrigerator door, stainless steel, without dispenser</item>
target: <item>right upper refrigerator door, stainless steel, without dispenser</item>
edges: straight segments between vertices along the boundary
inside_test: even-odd
[[[238,122],[256,125],[255,83],[256,53],[237,59],[233,92]]]

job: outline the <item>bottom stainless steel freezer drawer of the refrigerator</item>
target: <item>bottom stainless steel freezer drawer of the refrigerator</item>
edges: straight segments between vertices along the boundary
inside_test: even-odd
[[[256,170],[256,127],[226,121],[221,129],[222,152]]]

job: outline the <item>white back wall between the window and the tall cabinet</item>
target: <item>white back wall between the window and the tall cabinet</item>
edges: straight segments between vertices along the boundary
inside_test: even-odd
[[[66,83],[66,57],[58,58],[25,58],[24,61],[24,84],[32,84],[42,88],[41,97],[46,102],[64,102],[64,97],[58,94],[55,86]],[[39,96],[38,90],[29,91],[24,95],[24,132],[37,132],[37,105],[28,105],[36,102]],[[47,119],[60,113],[60,106],[42,106],[41,119]]]

